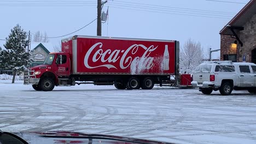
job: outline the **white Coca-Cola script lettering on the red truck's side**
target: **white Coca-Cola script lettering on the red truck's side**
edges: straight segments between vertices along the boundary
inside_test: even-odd
[[[126,50],[110,50],[110,49],[103,50],[102,47],[103,47],[102,43],[96,43],[90,47],[90,49],[88,50],[88,52],[84,57],[84,65],[86,68],[94,69],[99,67],[106,67],[108,69],[110,68],[118,69],[112,63],[116,63],[120,59],[119,67],[121,69],[128,68],[131,65],[131,63],[137,63],[138,60],[142,61],[139,64],[141,65],[142,69],[150,69],[153,66],[154,58],[149,57],[149,55],[152,51],[158,48],[158,46],[154,47],[154,45],[151,45],[149,47],[146,47],[142,44],[131,45]],[[139,48],[142,48],[144,50],[143,55],[137,52]],[[92,53],[92,51],[96,51],[96,52]],[[132,55],[136,57],[132,58]],[[92,56],[92,62],[98,65],[93,65],[93,66],[89,65],[88,61],[89,61],[89,57],[91,56]],[[101,63],[98,61],[100,61]]]

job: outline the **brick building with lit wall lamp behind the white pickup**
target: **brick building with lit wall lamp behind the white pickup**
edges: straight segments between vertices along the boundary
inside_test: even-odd
[[[251,0],[220,31],[220,59],[256,63],[256,0]]]

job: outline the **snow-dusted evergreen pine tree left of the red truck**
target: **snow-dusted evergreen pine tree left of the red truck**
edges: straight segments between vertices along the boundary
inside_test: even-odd
[[[8,38],[6,38],[4,47],[6,50],[2,50],[1,54],[4,58],[3,66],[4,69],[13,70],[13,81],[17,70],[22,70],[28,67],[32,59],[32,53],[26,50],[28,45],[27,33],[17,24],[13,29]]]

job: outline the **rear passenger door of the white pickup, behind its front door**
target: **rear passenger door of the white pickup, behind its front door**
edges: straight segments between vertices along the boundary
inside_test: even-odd
[[[249,65],[239,65],[239,69],[240,87],[252,87],[254,85],[254,77],[252,77]]]

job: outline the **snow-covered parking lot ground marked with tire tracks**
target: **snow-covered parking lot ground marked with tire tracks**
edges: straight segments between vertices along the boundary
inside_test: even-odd
[[[37,92],[0,81],[0,129],[108,134],[176,143],[256,143],[256,95],[80,85]]]

